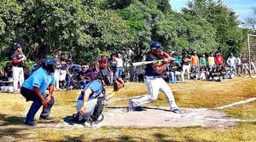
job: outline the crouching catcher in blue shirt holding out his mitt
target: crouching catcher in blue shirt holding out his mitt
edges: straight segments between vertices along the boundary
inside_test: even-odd
[[[113,84],[113,92],[106,95],[103,86],[104,77],[102,71],[98,73],[90,72],[87,74],[90,82],[85,84],[77,101],[77,114],[73,114],[74,122],[92,123],[102,122],[104,116],[102,111],[106,100],[113,98],[116,92],[124,86],[122,79],[117,79]]]

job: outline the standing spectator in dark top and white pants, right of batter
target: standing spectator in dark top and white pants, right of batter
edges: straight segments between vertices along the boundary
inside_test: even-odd
[[[185,71],[187,71],[188,79],[190,79],[190,57],[189,57],[188,53],[183,54],[182,68],[183,68],[183,70],[181,73],[181,78],[182,78],[182,82],[185,83],[185,77],[184,77]]]

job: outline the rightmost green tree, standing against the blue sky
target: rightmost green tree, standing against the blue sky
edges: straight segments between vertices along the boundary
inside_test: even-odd
[[[240,21],[236,13],[227,8],[221,0],[217,3],[212,0],[193,0],[188,3],[188,9],[184,8],[183,14],[191,14],[201,19],[206,19],[216,29],[218,52],[226,56],[230,51],[241,52],[242,31],[238,27]]]

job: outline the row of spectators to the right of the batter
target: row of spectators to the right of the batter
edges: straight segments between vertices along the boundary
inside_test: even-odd
[[[232,79],[241,75],[251,76],[251,73],[256,73],[255,57],[252,56],[249,60],[245,53],[237,57],[230,53],[227,60],[224,60],[221,53],[215,55],[211,53],[206,56],[206,54],[198,55],[196,51],[192,54],[185,52],[181,58],[173,52],[171,54],[176,60],[169,63],[164,73],[166,82],[185,83],[185,76],[188,80],[221,82],[222,79]]]

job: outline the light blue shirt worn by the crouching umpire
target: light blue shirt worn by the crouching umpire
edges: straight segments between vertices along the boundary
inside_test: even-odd
[[[33,87],[36,87],[39,88],[41,94],[44,94],[45,90],[49,87],[49,84],[55,84],[54,73],[48,74],[46,70],[40,67],[22,83],[22,87],[30,90],[33,90]]]

